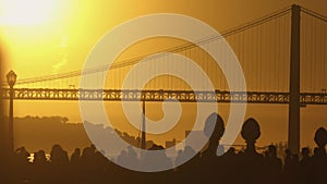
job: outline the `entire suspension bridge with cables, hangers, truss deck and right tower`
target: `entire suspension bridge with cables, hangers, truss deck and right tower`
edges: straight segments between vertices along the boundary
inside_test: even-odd
[[[142,56],[114,62],[111,66],[99,65],[84,71],[19,78],[13,88],[13,98],[289,105],[289,145],[294,152],[299,152],[300,107],[327,105],[326,22],[324,15],[292,5],[223,32],[221,36],[230,44],[240,61],[247,91],[230,91],[221,69],[198,47],[202,45],[206,49],[215,49],[210,42],[220,38],[209,37],[160,52],[179,53],[194,60],[210,77],[215,93],[201,87],[190,89],[186,83],[172,76],[156,77],[142,89],[137,86],[121,89],[129,71],[147,57]],[[156,61],[170,60],[169,54],[157,56],[150,58],[152,70],[158,70]],[[167,69],[174,66],[167,65]],[[88,83],[98,83],[97,78],[107,76],[104,88],[77,88],[82,75],[93,76],[94,79]],[[137,79],[137,76],[133,78]],[[196,77],[193,79],[201,86],[201,81]],[[10,95],[10,89],[3,87],[2,97],[9,99]]]

